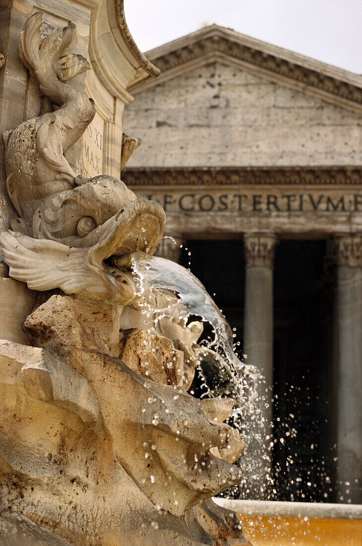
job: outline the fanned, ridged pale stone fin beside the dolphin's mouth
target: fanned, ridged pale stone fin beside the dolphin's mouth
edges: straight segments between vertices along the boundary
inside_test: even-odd
[[[26,282],[34,290],[61,288],[74,294],[91,288],[95,282],[95,276],[86,268],[88,249],[11,231],[0,233],[0,245],[10,277]]]

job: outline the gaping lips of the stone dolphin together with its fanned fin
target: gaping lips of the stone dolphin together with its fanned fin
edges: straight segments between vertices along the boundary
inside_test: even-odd
[[[9,231],[0,233],[0,245],[10,276],[29,288],[61,288],[128,305],[137,288],[132,272],[116,260],[137,250],[153,254],[165,222],[158,203],[136,199],[83,238],[54,241]]]

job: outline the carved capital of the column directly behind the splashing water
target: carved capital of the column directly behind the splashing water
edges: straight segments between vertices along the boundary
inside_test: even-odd
[[[272,268],[276,242],[274,233],[244,233],[246,267],[257,265]]]

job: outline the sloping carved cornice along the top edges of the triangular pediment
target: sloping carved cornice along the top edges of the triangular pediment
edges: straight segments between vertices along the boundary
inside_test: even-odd
[[[141,86],[139,91],[219,61],[362,112],[360,75],[218,25],[202,28],[145,55],[161,70],[161,75]]]

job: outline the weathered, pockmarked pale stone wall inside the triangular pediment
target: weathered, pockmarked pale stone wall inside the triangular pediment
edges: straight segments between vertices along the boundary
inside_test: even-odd
[[[213,62],[134,93],[128,167],[360,165],[362,116]]]

